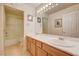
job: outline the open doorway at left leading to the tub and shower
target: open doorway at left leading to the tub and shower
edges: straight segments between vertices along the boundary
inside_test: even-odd
[[[23,17],[23,11],[5,6],[5,55],[22,55],[24,37]]]

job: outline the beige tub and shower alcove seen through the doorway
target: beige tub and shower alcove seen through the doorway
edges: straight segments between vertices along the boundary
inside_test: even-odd
[[[23,18],[8,13],[6,15],[5,46],[16,44],[23,39]]]

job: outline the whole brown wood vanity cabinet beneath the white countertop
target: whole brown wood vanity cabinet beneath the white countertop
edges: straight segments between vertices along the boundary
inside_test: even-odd
[[[72,54],[27,36],[27,50],[33,56],[72,56]]]

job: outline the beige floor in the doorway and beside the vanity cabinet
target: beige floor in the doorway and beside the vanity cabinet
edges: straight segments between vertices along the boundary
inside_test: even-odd
[[[20,43],[6,47],[5,48],[5,56],[30,56],[28,51],[23,53],[23,49]]]

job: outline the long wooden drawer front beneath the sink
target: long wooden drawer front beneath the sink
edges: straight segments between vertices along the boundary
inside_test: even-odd
[[[70,56],[70,54],[65,53],[59,49],[54,48],[54,47],[51,47],[47,44],[43,44],[42,49],[47,51],[49,54],[51,54],[53,56]]]

